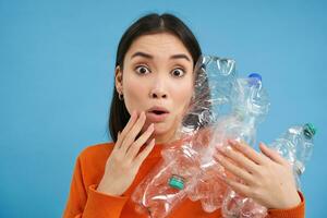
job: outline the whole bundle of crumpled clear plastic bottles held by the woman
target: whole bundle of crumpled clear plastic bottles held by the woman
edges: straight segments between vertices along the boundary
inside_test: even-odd
[[[195,75],[194,97],[177,132],[183,140],[162,149],[162,161],[135,189],[136,209],[149,217],[167,217],[189,197],[201,201],[208,213],[222,207],[223,217],[265,217],[267,208],[226,186],[221,177],[232,175],[214,158],[217,147],[230,148],[227,140],[254,145],[256,126],[269,109],[262,78],[258,74],[237,78],[233,60],[209,56],[197,62]],[[294,134],[287,138],[299,142]],[[274,146],[293,161],[295,172],[303,172],[305,158],[294,158],[282,145]],[[296,157],[308,157],[303,150],[311,150],[310,145],[302,143]]]

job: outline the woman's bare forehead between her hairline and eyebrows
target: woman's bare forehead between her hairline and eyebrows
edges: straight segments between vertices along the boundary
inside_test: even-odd
[[[170,33],[140,36],[132,43],[126,57],[137,51],[149,53],[155,58],[169,58],[177,53],[184,53],[192,60],[192,56],[183,43]]]

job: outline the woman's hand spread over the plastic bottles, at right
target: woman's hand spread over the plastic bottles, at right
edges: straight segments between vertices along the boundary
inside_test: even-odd
[[[277,152],[263,143],[262,154],[245,143],[229,144],[228,148],[217,148],[215,158],[238,178],[223,178],[231,189],[270,209],[291,208],[301,203],[292,167]]]

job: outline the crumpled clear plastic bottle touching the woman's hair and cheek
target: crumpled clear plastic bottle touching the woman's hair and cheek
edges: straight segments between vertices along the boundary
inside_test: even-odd
[[[196,62],[193,98],[179,128],[181,134],[194,134],[217,121],[229,109],[230,95],[237,80],[235,61],[202,56]]]

